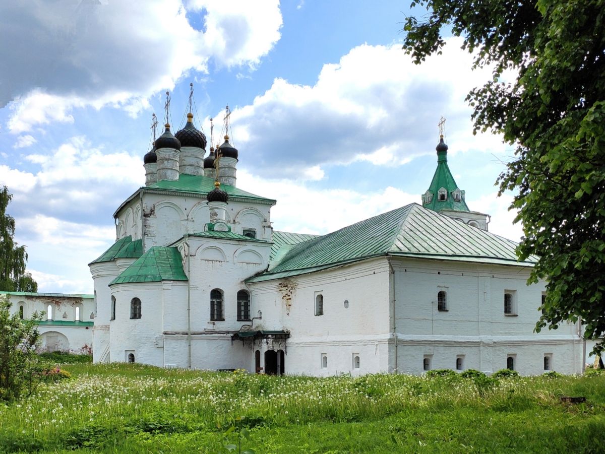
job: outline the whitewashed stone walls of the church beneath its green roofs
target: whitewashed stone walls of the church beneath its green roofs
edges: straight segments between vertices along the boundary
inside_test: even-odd
[[[254,279],[269,275],[296,241],[306,240],[272,250],[275,201],[237,192],[237,160],[221,158],[219,180],[233,178],[225,204],[208,202],[208,177],[195,177],[198,186],[191,186],[186,178],[193,177],[181,181],[177,167],[160,174],[168,167],[162,159],[159,150],[159,183],[139,189],[114,214],[116,234],[118,241],[140,240],[143,258],[160,247],[177,250],[178,259],[168,271],[162,265],[145,270],[143,258],[135,257],[91,263],[95,362],[308,375],[582,371],[577,325],[534,332],[545,285],[526,285],[531,264],[500,252],[492,259],[382,253]],[[202,185],[209,189],[183,189]],[[443,215],[428,218],[445,222]],[[487,230],[486,215],[465,216],[463,224],[479,222],[476,227]],[[437,241],[429,230],[419,235]],[[465,225],[460,234],[493,237],[475,230]],[[464,238],[448,241],[465,244]],[[173,277],[159,276],[173,271]]]

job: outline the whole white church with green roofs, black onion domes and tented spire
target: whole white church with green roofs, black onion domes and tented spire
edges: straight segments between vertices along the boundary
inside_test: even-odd
[[[210,148],[188,115],[144,158],[90,263],[95,362],[265,374],[429,369],[581,373],[579,325],[535,333],[534,260],[488,232],[437,145],[422,204],[327,235],[273,230],[272,198],[237,187],[239,152]],[[428,178],[427,178],[428,180]]]

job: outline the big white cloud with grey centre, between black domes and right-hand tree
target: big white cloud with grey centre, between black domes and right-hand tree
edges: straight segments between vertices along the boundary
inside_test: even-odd
[[[473,136],[465,97],[491,78],[469,71],[462,41],[414,65],[401,45],[361,45],[325,64],[315,85],[275,79],[251,105],[234,108],[232,137],[264,177],[295,177],[301,168],[369,161],[398,166],[433,153],[445,115],[450,151],[502,150],[489,134]],[[215,115],[220,118],[221,116]]]

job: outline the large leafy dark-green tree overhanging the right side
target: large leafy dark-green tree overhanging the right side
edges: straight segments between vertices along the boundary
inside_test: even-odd
[[[539,256],[530,282],[546,279],[536,328],[585,323],[605,332],[605,1],[413,0],[428,10],[404,25],[404,50],[421,63],[443,33],[463,37],[474,67],[493,77],[467,97],[474,132],[515,147],[497,183],[515,193],[520,258]],[[516,71],[510,82],[503,71]],[[602,349],[603,346],[598,346]]]

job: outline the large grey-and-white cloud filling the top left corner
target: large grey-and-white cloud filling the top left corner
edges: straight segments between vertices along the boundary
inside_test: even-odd
[[[0,2],[0,106],[10,102],[13,133],[73,122],[82,106],[137,115],[189,71],[208,71],[211,59],[258,65],[281,25],[277,1]]]

